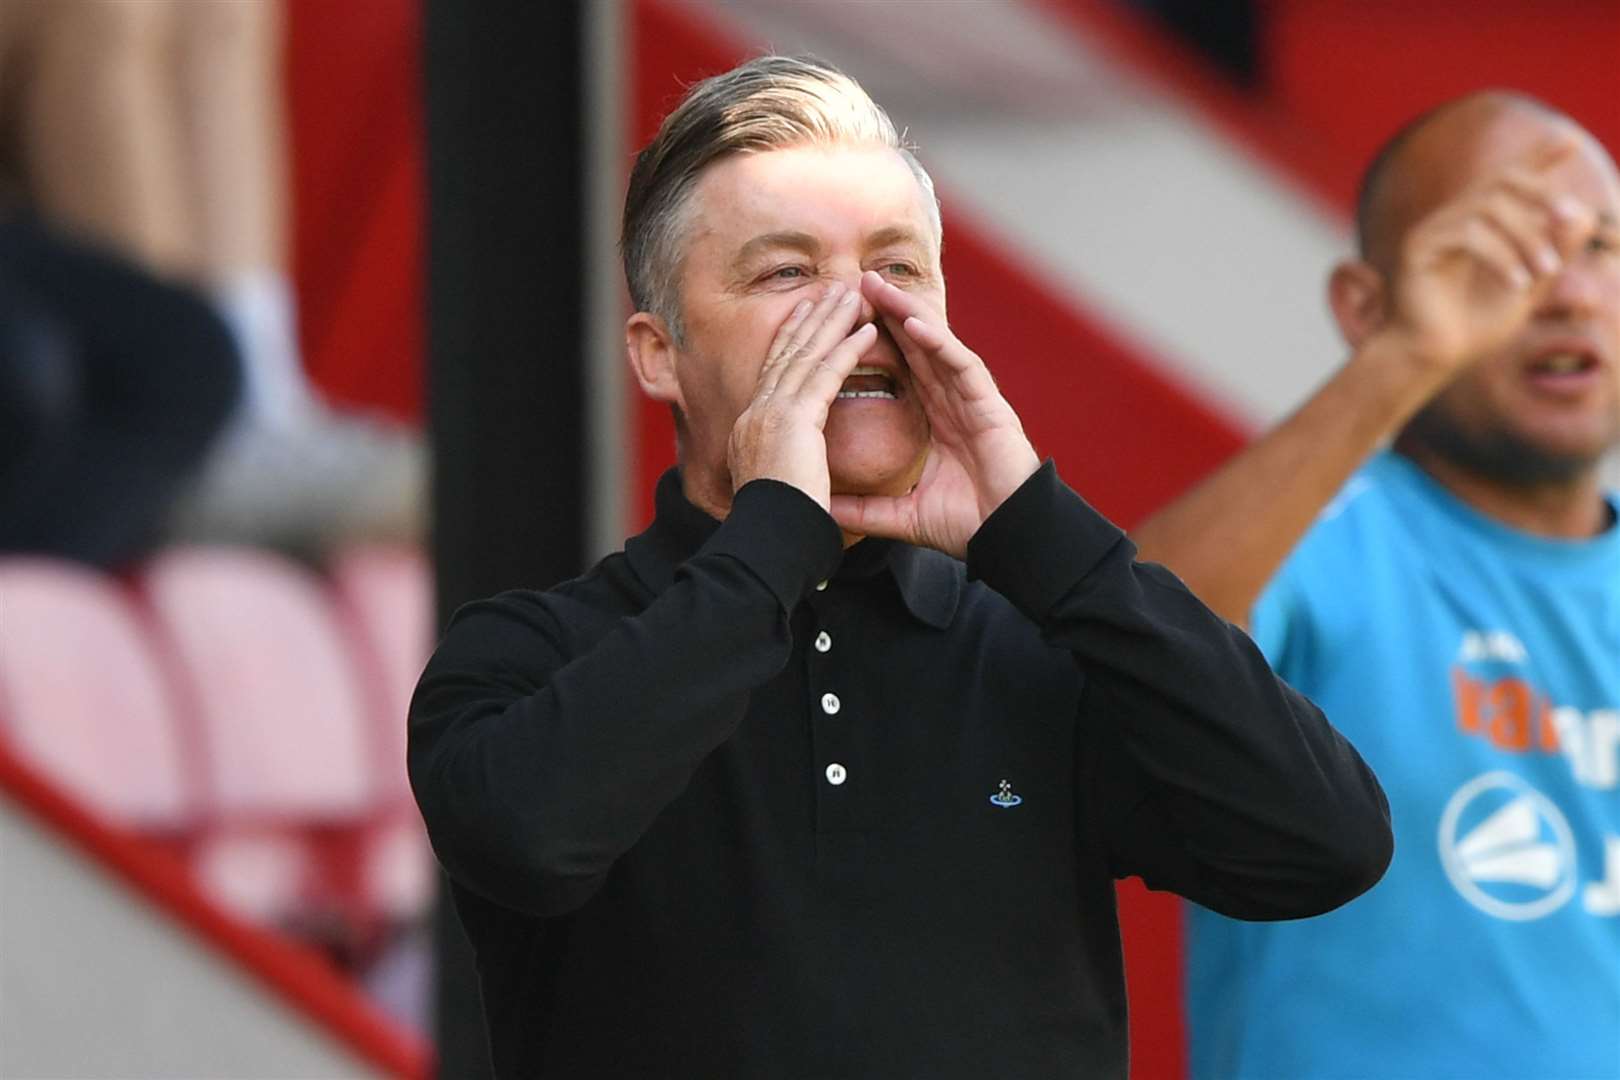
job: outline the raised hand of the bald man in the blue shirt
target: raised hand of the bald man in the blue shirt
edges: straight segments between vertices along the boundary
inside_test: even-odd
[[[1596,227],[1591,207],[1557,189],[1576,149],[1544,142],[1408,230],[1374,340],[1439,379],[1511,340]]]

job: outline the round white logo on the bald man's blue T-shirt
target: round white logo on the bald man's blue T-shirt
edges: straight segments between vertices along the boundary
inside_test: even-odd
[[[1526,921],[1575,895],[1575,836],[1545,795],[1511,772],[1486,772],[1440,814],[1440,863],[1463,899]]]

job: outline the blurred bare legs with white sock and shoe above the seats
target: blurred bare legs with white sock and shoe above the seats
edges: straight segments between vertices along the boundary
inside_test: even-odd
[[[335,413],[301,364],[280,47],[275,0],[0,0],[0,165],[58,228],[194,285],[235,337],[241,405],[183,539],[415,538],[420,442]]]

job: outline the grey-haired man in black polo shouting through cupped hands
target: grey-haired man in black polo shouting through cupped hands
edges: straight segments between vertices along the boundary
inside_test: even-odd
[[[463,607],[411,704],[501,1075],[1123,1077],[1115,878],[1244,918],[1377,879],[1356,751],[949,332],[854,81],[698,83],[622,236],[656,520]]]

